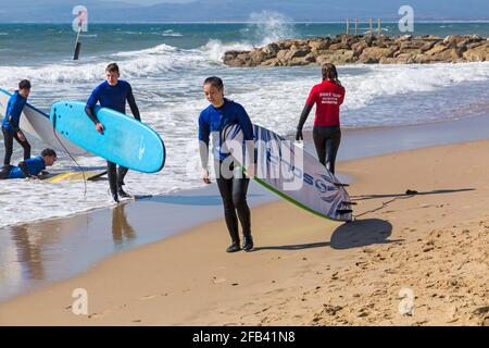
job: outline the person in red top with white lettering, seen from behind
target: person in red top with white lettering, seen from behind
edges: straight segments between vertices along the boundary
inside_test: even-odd
[[[339,107],[344,100],[344,87],[338,79],[334,64],[327,63],[322,67],[323,83],[315,85],[302,110],[297,126],[296,140],[302,140],[302,127],[308,120],[311,109],[316,104],[313,139],[317,158],[326,169],[335,174],[335,162],[341,141]]]

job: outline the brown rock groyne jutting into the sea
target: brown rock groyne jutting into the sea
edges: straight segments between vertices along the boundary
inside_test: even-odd
[[[427,64],[489,61],[489,39],[479,35],[401,37],[338,35],[283,40],[251,51],[227,51],[229,66],[342,64]]]

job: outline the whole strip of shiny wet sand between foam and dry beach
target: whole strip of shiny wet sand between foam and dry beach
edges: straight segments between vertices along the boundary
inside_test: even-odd
[[[465,128],[464,132],[460,132],[461,127]],[[416,148],[476,141],[488,138],[485,132],[487,128],[489,128],[489,115],[429,125],[401,126],[387,129],[355,129],[354,134],[347,129],[338,160],[339,164],[342,164],[346,161],[368,159]],[[311,134],[305,136],[308,140]],[[386,146],[386,144],[389,146]],[[311,142],[305,144],[305,149],[315,153]],[[340,179],[350,183],[349,177],[342,174],[340,171]],[[253,208],[279,201],[279,198],[252,183],[249,201]],[[183,213],[181,209],[185,209],[186,213]],[[153,231],[147,222],[147,220],[153,219],[148,211],[164,212],[172,217],[165,221],[165,228]],[[113,233],[113,236],[108,235],[106,231],[114,232],[115,227],[124,231],[123,225],[116,226],[117,224],[114,223],[114,221],[121,219],[126,221],[126,225],[130,226],[125,228],[126,231],[135,228],[139,233],[133,238],[121,237],[118,240],[114,235],[122,236],[123,233]],[[111,258],[121,250],[158,243],[162,238],[220,219],[222,219],[222,207],[216,188],[201,187],[192,190],[180,190],[172,195],[155,196],[150,199],[125,203],[118,206],[118,208],[97,209],[71,216],[0,228],[0,256],[20,252],[21,254],[33,253],[30,258],[37,258],[34,264],[29,258],[20,260],[21,262],[12,256],[0,258],[0,284],[3,284],[3,295],[0,294],[0,302],[12,296],[22,295],[32,289],[42,288],[54,282],[76,276],[86,272],[95,263]],[[98,220],[103,223],[96,223]],[[48,232],[50,228],[43,226],[51,226],[51,229],[55,232]],[[100,231],[102,236],[98,236],[97,233],[93,234],[93,228]],[[39,235],[39,231],[43,231],[41,235],[45,236],[38,241],[29,241],[33,236]],[[79,246],[75,246],[73,241],[77,238],[80,243]],[[18,240],[26,241],[18,244]],[[76,254],[78,257],[74,257]],[[36,263],[45,264],[43,266],[47,270],[43,273],[39,272],[37,270],[39,266],[36,266]],[[70,264],[68,270],[66,270],[65,264]],[[7,272],[10,268],[17,270],[16,272],[24,270],[22,272],[27,272],[27,274],[18,275],[15,272],[10,274]],[[2,273],[4,273],[3,276]]]

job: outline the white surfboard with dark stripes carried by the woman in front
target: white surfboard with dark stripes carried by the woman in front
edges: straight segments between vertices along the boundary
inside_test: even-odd
[[[341,184],[321,162],[301,147],[259,125],[253,126],[255,147],[254,179],[262,186],[311,213],[335,221],[351,221],[350,197]],[[221,134],[221,149],[244,170],[243,134],[238,124]],[[244,153],[244,154],[243,154]]]

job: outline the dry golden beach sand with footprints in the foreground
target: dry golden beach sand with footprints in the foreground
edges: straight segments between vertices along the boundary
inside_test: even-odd
[[[0,325],[489,325],[488,150],[340,163],[355,222],[268,203],[252,210],[253,252],[226,253],[224,221],[205,223],[3,302]]]

